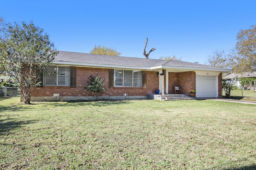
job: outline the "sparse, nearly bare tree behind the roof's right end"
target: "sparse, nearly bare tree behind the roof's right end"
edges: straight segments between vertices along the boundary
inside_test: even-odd
[[[234,63],[234,56],[232,55],[233,53],[234,51],[225,53],[224,50],[216,50],[208,57],[206,64],[232,69],[232,65]]]

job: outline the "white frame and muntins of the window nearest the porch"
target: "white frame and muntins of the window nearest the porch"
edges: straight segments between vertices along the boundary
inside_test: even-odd
[[[116,77],[116,71],[120,71],[122,77]],[[124,71],[132,71],[132,77],[124,77]],[[134,72],[141,72],[141,78],[134,78]],[[116,85],[116,78],[122,79],[122,85]],[[124,79],[132,79],[132,86],[124,86]],[[140,80],[141,86],[134,86],[134,80]],[[120,82],[121,83],[121,82]],[[142,87],[142,70],[122,70],[122,69],[114,69],[114,87]]]

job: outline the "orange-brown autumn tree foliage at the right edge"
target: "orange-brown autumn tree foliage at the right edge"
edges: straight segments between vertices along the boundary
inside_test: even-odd
[[[256,71],[256,25],[240,30],[237,40],[236,49],[240,58],[234,70],[239,73]]]

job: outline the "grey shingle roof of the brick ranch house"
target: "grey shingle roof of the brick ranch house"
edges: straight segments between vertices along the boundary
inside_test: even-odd
[[[146,58],[135,58],[135,57],[120,57],[120,56],[106,56],[96,55],[89,53],[75,53],[59,51],[55,57],[54,63],[69,63],[74,65],[87,65],[87,66],[106,66],[106,67],[131,67],[131,68],[145,68],[154,69],[159,68],[182,68],[182,69],[197,69],[197,70],[215,70],[215,71],[226,71],[220,67],[209,66],[204,64],[189,63],[185,61],[177,60],[158,60],[158,59],[146,59]]]

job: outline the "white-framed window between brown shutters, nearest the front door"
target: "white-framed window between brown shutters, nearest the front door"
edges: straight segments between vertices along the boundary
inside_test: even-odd
[[[114,86],[142,87],[142,71],[114,70]]]

